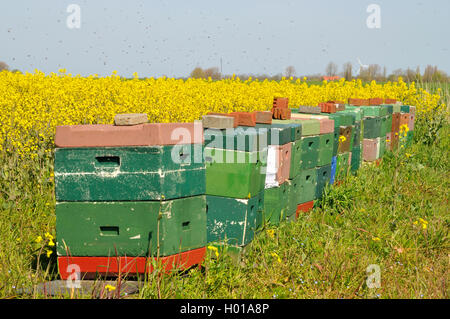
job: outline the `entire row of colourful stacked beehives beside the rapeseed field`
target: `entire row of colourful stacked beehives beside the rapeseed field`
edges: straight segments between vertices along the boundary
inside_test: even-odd
[[[57,128],[62,278],[73,264],[89,275],[136,274],[154,268],[149,260],[166,270],[199,264],[207,246],[239,253],[267,225],[310,210],[362,160],[409,143],[414,108],[289,108],[276,98],[272,112],[211,113],[196,123],[121,116],[118,125]],[[409,131],[399,142],[402,125]]]

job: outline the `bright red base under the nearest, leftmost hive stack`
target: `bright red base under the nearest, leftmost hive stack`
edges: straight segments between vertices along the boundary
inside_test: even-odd
[[[127,275],[130,277],[151,273],[161,265],[159,270],[169,273],[173,269],[187,270],[194,265],[201,264],[205,258],[206,248],[194,249],[180,254],[159,258],[147,257],[58,257],[58,269],[62,280],[73,276],[71,265],[80,267],[80,278],[95,278],[98,274],[104,276]],[[155,263],[153,263],[155,261]]]

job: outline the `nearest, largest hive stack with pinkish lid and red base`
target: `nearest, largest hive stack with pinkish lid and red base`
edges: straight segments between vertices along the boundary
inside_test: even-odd
[[[166,269],[187,268],[204,257],[201,124],[129,124],[56,128],[56,241],[63,279],[72,264],[86,275],[132,275],[151,271],[149,259],[155,257]]]

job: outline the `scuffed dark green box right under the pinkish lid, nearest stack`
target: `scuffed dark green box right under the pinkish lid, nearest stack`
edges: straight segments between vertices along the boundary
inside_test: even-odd
[[[57,201],[160,200],[205,194],[200,145],[59,148]]]

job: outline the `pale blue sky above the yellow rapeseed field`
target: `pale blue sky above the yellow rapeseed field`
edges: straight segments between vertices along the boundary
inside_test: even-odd
[[[81,9],[81,28],[66,25]],[[367,7],[381,9],[370,29]],[[450,73],[450,1],[365,0],[15,0],[0,11],[0,61],[46,73],[188,76],[196,66],[223,73],[324,72],[437,65]]]

